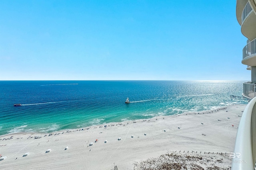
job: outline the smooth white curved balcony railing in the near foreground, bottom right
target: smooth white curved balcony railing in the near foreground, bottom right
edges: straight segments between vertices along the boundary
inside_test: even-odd
[[[256,98],[244,109],[236,133],[231,170],[253,170],[256,161]]]

